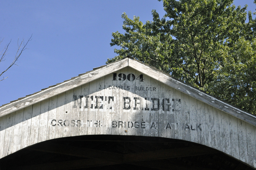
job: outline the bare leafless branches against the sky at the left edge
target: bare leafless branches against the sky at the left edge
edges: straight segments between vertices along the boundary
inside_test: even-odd
[[[18,42],[17,42],[18,49],[17,49],[16,55],[15,55],[15,58],[14,58],[14,60],[12,61],[12,63],[11,63],[9,66],[7,66],[6,69],[4,69],[2,72],[0,72],[0,77],[3,75],[3,73],[5,73],[8,69],[10,69],[13,65],[16,65],[16,64],[15,64],[16,61],[19,59],[21,53],[22,53],[24,50],[26,50],[26,45],[27,45],[27,44],[29,43],[29,41],[31,41],[31,40],[32,40],[32,35],[31,35],[31,37],[29,37],[29,40],[27,40],[26,43],[25,43],[24,39],[23,39],[20,43],[19,43],[19,40],[18,40]],[[10,40],[10,42],[4,47],[4,49],[2,50],[2,53],[0,53],[0,57],[1,57],[1,58],[0,58],[0,63],[3,62],[3,61],[5,61],[5,59],[6,59],[6,54],[7,54],[7,51],[8,51],[8,47],[9,47],[11,41],[12,41],[12,40]],[[2,42],[3,42],[3,39],[0,41],[0,44],[1,44]],[[8,78],[8,77],[6,77],[6,78]],[[6,78],[3,77],[3,79],[0,79],[0,81],[3,81],[3,80],[6,79]]]

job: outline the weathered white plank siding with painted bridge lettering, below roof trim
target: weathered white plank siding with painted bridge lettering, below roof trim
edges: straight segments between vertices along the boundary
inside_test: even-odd
[[[0,158],[77,135],[192,141],[256,167],[256,127],[131,67],[0,117]]]

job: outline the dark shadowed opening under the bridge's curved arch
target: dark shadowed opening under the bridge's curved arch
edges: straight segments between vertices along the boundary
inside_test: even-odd
[[[44,141],[0,159],[0,170],[253,170],[218,150],[170,138],[84,135]]]

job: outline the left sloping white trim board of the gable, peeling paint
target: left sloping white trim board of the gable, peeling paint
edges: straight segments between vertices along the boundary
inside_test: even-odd
[[[70,81],[63,82],[57,86],[50,87],[34,95],[30,95],[21,100],[7,104],[3,107],[0,107],[0,117],[2,117],[3,115],[9,114],[10,112],[15,112],[16,110],[19,110],[24,107],[30,106],[32,104],[43,101],[47,98],[51,98],[62,92],[66,92],[77,86],[81,86],[83,84],[89,83],[90,81],[94,81],[109,73],[116,72],[117,70],[122,69],[126,66],[128,66],[128,58],[125,58],[118,62],[108,64],[106,66],[103,66],[101,69],[96,69],[91,72],[87,72],[86,74],[78,76],[77,78],[71,79]]]

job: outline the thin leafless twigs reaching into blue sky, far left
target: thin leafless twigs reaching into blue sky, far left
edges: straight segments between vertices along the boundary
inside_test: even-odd
[[[20,57],[20,55],[21,55],[21,53],[24,51],[24,50],[26,50],[27,48],[26,48],[26,45],[29,43],[29,41],[31,41],[32,40],[32,35],[29,37],[29,40],[27,40],[26,41],[26,43],[24,43],[24,39],[21,41],[21,43],[19,44],[19,40],[17,41],[17,45],[18,45],[18,49],[17,49],[17,52],[16,52],[16,55],[15,55],[15,58],[14,58],[14,60],[12,61],[12,63],[10,64],[10,66],[6,69],[6,70],[4,70],[1,74],[0,74],[0,76],[1,75],[3,75],[3,73],[4,72],[6,72],[9,68],[11,68],[14,64],[15,64],[15,62],[19,59],[19,57]],[[3,40],[2,40],[3,41]],[[1,41],[1,42],[2,42]],[[12,41],[12,40],[11,40]],[[2,54],[2,57],[0,58],[0,62],[1,61],[4,61],[4,58],[5,58],[5,55],[6,55],[6,52],[7,52],[7,50],[8,50],[8,47],[9,47],[9,44],[11,43],[11,41],[6,45],[6,47],[4,48],[4,52],[3,52],[3,54]],[[22,44],[23,44],[23,47],[22,47]],[[21,50],[20,50],[21,49]],[[16,64],[15,64],[16,65]],[[8,77],[6,77],[6,78],[8,78]],[[2,80],[0,80],[0,81],[3,81],[4,79],[6,79],[6,78],[3,78]]]

